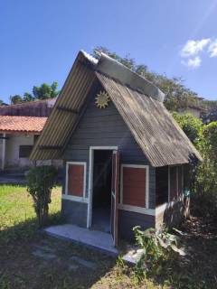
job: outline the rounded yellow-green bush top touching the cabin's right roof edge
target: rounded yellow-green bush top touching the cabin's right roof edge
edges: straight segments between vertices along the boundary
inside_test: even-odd
[[[194,145],[197,144],[202,137],[203,122],[191,114],[180,115],[174,112],[173,117],[184,130],[185,135],[188,136]]]

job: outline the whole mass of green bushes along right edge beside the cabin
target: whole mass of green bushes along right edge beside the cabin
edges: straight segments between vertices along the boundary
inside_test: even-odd
[[[192,163],[189,170],[192,209],[194,214],[217,219],[217,122],[203,125],[190,114],[173,114],[203,157],[203,162]]]

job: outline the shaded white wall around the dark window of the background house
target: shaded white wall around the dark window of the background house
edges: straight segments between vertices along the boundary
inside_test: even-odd
[[[33,145],[33,135],[7,135],[5,167],[28,167],[33,165],[27,157],[19,157],[20,145]]]

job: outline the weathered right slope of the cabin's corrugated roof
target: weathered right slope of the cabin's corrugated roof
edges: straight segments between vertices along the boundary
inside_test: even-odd
[[[202,159],[162,102],[95,73],[153,166]]]

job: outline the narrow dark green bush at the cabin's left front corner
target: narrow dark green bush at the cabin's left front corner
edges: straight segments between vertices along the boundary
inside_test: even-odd
[[[46,225],[49,204],[52,202],[52,188],[55,187],[57,170],[53,166],[43,165],[32,168],[27,173],[27,191],[33,197],[33,208],[39,227]]]

